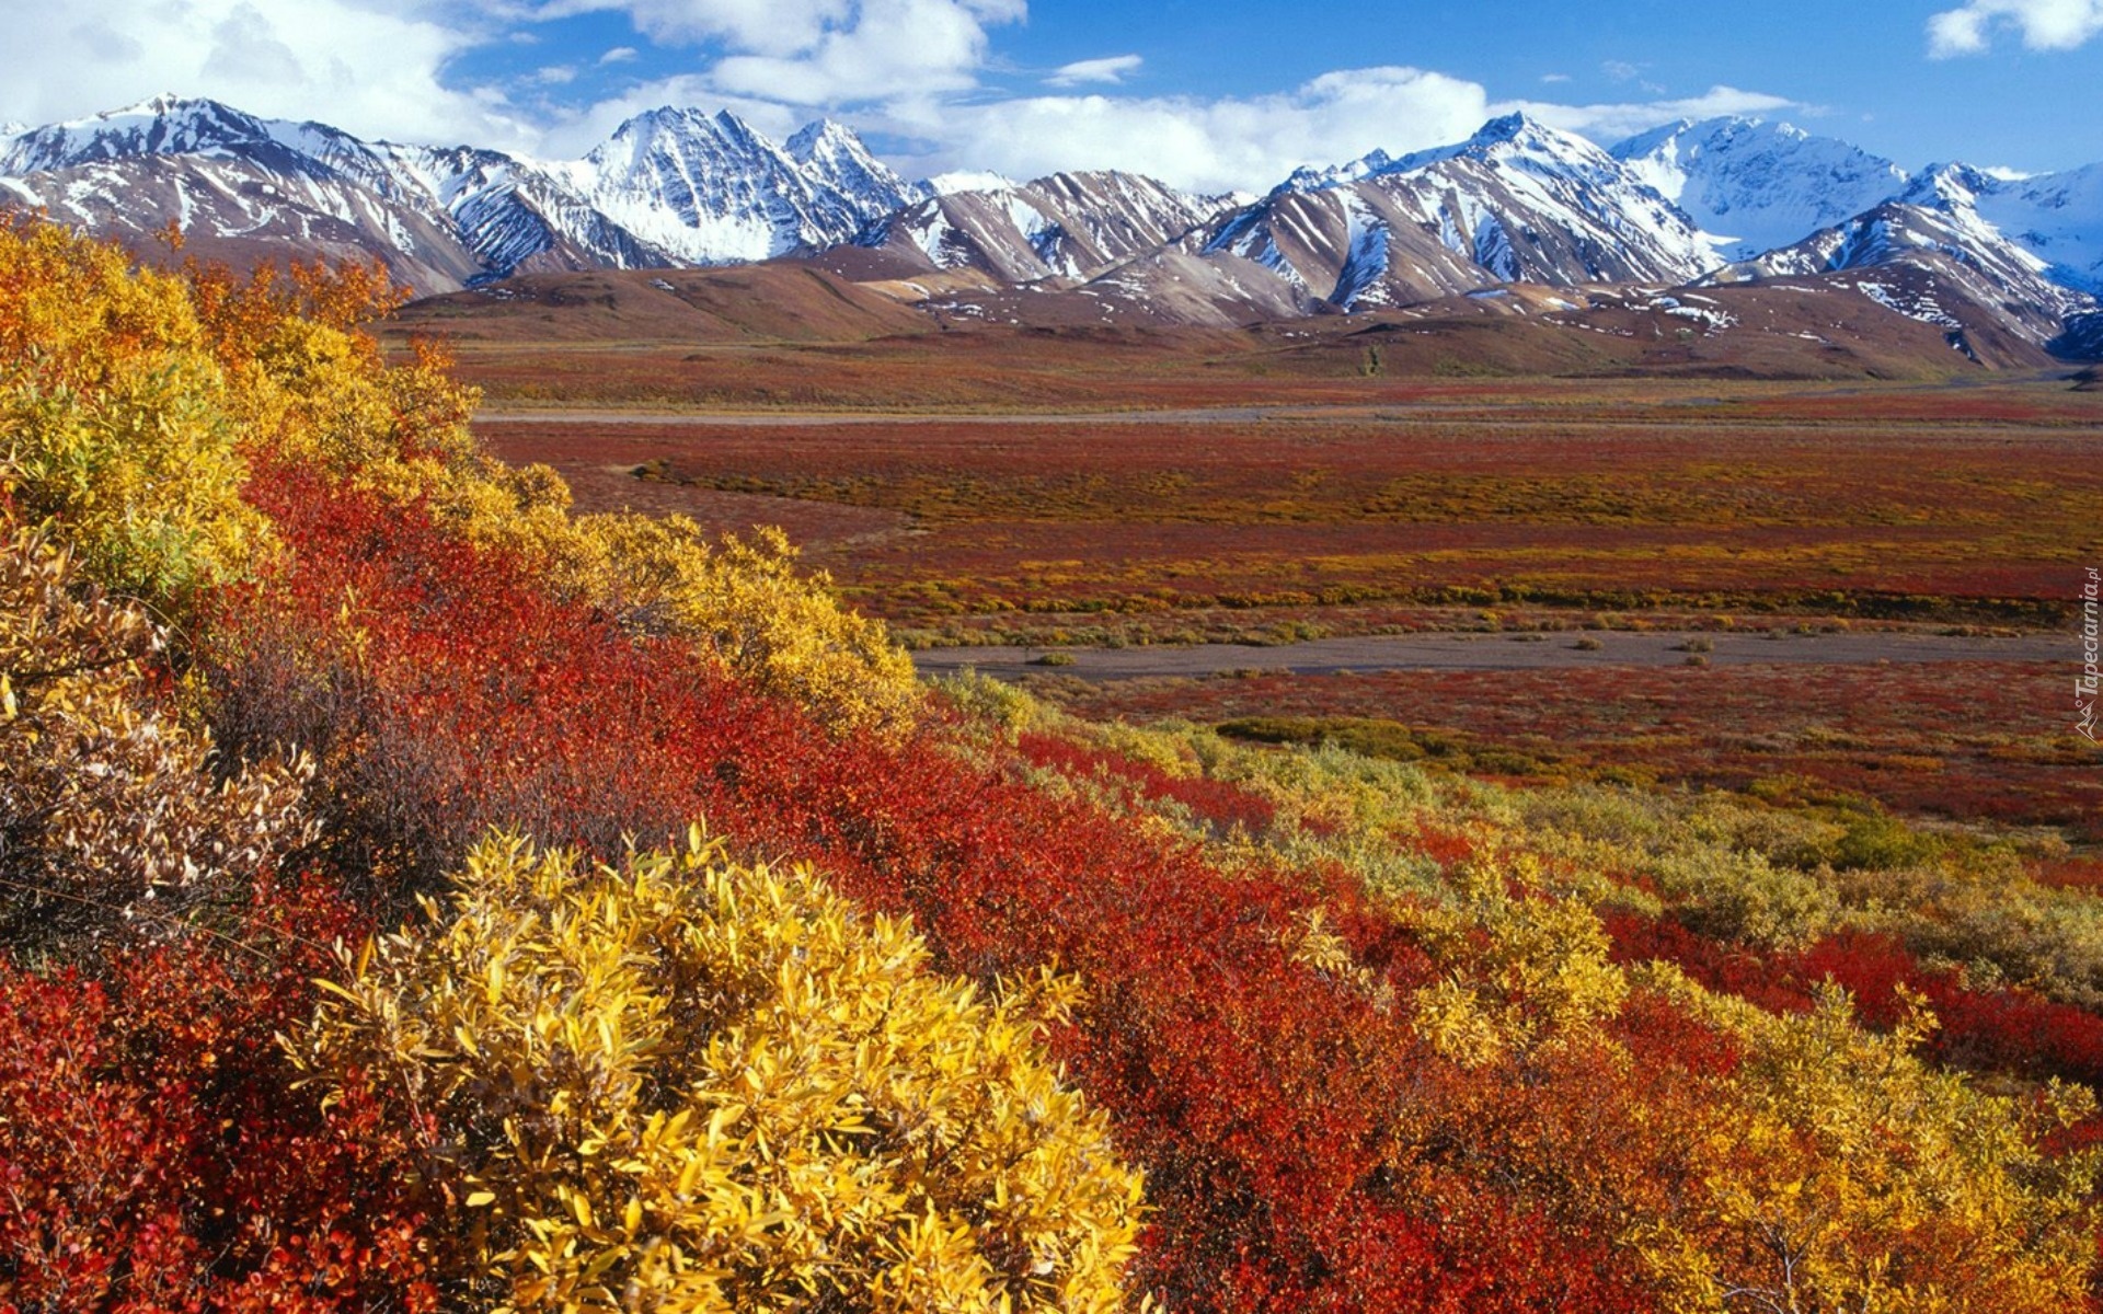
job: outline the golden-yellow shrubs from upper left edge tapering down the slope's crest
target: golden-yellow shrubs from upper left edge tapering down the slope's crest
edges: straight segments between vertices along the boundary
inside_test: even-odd
[[[254,467],[322,469],[425,505],[831,725],[911,721],[906,656],[822,574],[799,576],[778,532],[709,545],[677,517],[572,517],[555,471],[482,454],[479,395],[446,357],[387,364],[362,332],[395,296],[355,265],[177,278],[59,225],[0,225],[0,494],[57,517],[97,580],[166,605],[267,559],[269,523],[242,500]]]

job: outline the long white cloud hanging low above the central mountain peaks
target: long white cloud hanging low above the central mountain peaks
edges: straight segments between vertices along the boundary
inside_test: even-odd
[[[1459,141],[1489,118],[1476,82],[1411,67],[1323,74],[1264,97],[1026,97],[890,105],[883,128],[919,137],[923,172],[1039,177],[1127,168],[1178,187],[1270,187],[1302,164]]]

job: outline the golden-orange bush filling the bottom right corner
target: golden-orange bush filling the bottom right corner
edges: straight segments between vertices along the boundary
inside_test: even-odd
[[[1792,1018],[1651,976],[1745,1045],[1693,1148],[1706,1198],[1634,1236],[1674,1310],[2084,1306],[2097,1152],[2040,1142],[2095,1112],[2088,1089],[2010,1100],[1931,1068],[1914,1053],[1935,1026],[1920,1001],[1874,1034],[1838,988]]]

